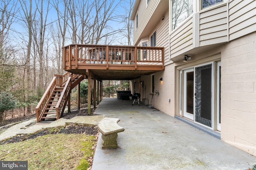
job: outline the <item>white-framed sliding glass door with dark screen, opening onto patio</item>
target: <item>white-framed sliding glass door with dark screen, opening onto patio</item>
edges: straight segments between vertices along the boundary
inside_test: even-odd
[[[215,130],[220,130],[220,62],[198,65],[182,70],[180,77],[180,112],[183,117]],[[217,83],[214,86],[214,83]],[[214,88],[216,101],[214,102]],[[214,106],[216,106],[214,108]],[[214,112],[216,112],[214,114]],[[215,122],[215,124],[214,124]]]

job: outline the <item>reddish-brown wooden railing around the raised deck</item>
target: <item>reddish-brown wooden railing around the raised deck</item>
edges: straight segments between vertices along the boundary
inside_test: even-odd
[[[162,65],[164,68],[164,47],[80,45],[71,44],[63,47],[64,70],[78,69],[79,65],[110,64]]]

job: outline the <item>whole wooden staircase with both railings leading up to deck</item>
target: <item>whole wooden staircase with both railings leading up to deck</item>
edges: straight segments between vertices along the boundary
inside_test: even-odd
[[[37,122],[46,119],[58,120],[62,117],[66,104],[70,100],[71,90],[83,79],[83,75],[70,72],[66,72],[63,75],[55,75],[36,106]]]

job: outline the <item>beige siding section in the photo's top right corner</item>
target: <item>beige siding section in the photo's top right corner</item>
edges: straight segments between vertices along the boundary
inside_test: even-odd
[[[230,41],[256,31],[256,1],[232,0],[229,4]]]

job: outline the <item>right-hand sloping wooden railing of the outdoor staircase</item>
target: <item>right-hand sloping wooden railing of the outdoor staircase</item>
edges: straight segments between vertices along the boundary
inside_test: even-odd
[[[58,100],[58,103],[56,105],[56,114],[57,114],[57,120],[61,117],[61,115],[64,113],[64,108],[67,104],[68,101],[68,96],[71,93],[71,76],[68,78],[68,80],[66,81],[66,85],[62,91],[62,93],[60,94],[60,98]]]

